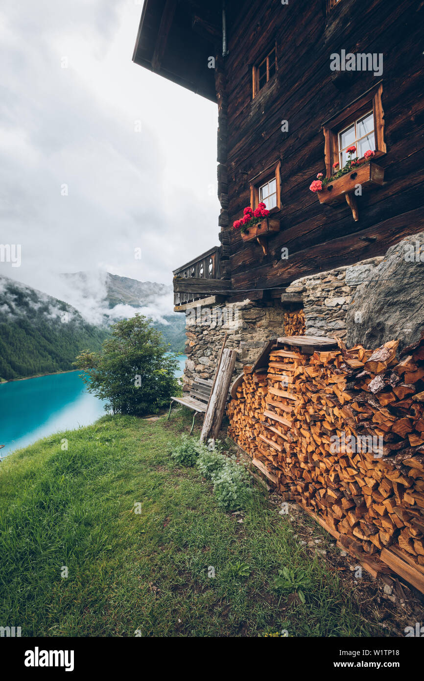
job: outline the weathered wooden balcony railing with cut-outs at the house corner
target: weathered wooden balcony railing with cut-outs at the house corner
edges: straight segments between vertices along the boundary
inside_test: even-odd
[[[201,300],[209,296],[225,295],[231,281],[221,279],[220,249],[214,246],[206,253],[174,270],[174,306]]]

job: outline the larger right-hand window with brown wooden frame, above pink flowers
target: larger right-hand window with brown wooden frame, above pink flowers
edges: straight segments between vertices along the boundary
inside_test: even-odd
[[[376,152],[374,158],[386,153],[381,96],[382,84],[378,84],[323,125],[327,177],[334,163],[340,163],[340,168],[346,164],[349,146],[356,146],[359,159],[368,150]]]

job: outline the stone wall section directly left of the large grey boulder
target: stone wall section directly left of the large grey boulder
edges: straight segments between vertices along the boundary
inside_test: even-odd
[[[303,297],[306,335],[344,338],[346,315],[355,291],[359,285],[373,279],[382,259],[382,256],[374,257],[293,281],[286,292]]]

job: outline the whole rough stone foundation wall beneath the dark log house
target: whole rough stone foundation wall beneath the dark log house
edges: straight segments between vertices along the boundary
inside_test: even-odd
[[[305,333],[310,336],[346,336],[346,315],[357,287],[374,278],[382,257],[363,260],[293,281],[289,294],[301,294],[305,315]],[[200,302],[200,301],[199,301]],[[302,304],[299,302],[299,309]],[[218,355],[227,332],[227,348],[239,351],[235,375],[243,366],[253,364],[264,343],[272,336],[287,335],[284,313],[293,314],[293,306],[278,301],[243,302],[205,306],[193,304],[186,309],[187,355],[183,390],[189,392],[195,379],[212,379]],[[357,321],[361,321],[358,319]]]

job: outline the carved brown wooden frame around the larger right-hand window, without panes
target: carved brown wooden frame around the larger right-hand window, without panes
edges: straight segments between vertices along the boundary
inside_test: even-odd
[[[382,83],[379,83],[368,91],[368,93],[365,93],[345,107],[340,114],[323,124],[325,138],[325,170],[327,178],[333,174],[333,163],[336,163],[336,161],[340,163],[340,133],[358,121],[361,116],[371,112],[371,110],[374,114],[374,140],[376,145],[376,153],[373,159],[378,159],[386,153],[385,114],[382,108],[381,97]]]

